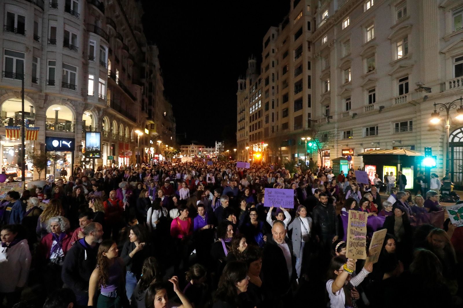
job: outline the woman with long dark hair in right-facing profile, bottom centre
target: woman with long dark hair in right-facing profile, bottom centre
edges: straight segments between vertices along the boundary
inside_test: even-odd
[[[284,266],[284,265],[283,265]],[[213,308],[242,307],[238,295],[248,290],[248,267],[244,262],[232,261],[225,265],[214,294]]]

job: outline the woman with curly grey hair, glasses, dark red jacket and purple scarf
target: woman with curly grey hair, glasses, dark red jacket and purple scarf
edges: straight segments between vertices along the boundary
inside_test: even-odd
[[[50,233],[44,236],[38,246],[38,257],[42,261],[44,284],[47,294],[62,287],[61,268],[68,252],[71,234],[69,220],[63,216],[51,217],[47,228]],[[72,246],[69,246],[72,247]]]

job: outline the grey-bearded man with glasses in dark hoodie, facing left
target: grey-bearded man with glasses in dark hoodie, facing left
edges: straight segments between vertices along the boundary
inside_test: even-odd
[[[61,272],[61,279],[66,287],[74,291],[78,306],[87,306],[88,303],[88,282],[96,267],[103,227],[98,222],[90,222],[83,229],[83,234],[84,237],[77,240],[66,254]]]

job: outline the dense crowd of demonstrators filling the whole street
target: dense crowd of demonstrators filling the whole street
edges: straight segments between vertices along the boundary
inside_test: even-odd
[[[462,305],[462,228],[418,219],[442,210],[436,180],[412,194],[400,175],[366,185],[353,174],[195,160],[76,169],[9,191],[0,203],[0,304]],[[293,190],[294,207],[266,206],[269,188]],[[346,258],[350,210],[384,216],[375,264]]]

